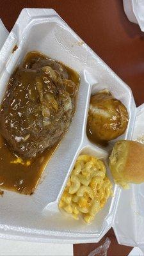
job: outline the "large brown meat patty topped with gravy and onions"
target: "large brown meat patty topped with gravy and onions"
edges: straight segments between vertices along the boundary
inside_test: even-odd
[[[8,82],[0,132],[13,150],[35,157],[67,131],[75,112],[77,84],[57,61],[30,53]]]

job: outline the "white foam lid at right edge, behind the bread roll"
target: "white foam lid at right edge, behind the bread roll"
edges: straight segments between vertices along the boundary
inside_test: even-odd
[[[136,111],[132,140],[144,143],[144,104]],[[122,189],[113,222],[119,244],[138,246],[144,252],[144,183]]]

